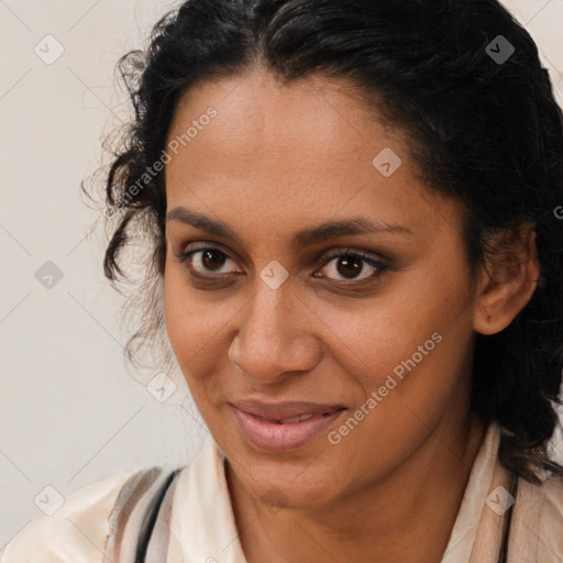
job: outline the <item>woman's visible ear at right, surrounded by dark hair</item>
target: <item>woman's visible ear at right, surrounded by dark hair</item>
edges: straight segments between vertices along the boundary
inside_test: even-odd
[[[540,265],[533,225],[504,230],[488,241],[486,263],[479,272],[473,328],[496,334],[526,307],[538,286]]]

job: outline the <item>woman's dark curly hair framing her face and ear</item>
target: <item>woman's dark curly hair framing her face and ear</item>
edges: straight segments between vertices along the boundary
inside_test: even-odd
[[[514,47],[507,60],[493,56],[499,41]],[[178,100],[258,66],[283,84],[347,80],[406,131],[429,189],[465,203],[474,273],[495,257],[492,234],[532,225],[539,284],[508,328],[476,334],[472,410],[500,424],[505,467],[530,482],[563,474],[548,448],[563,371],[563,115],[534,42],[497,0],[188,0],[165,15],[145,52],[120,59],[134,118],[106,176],[107,277],[128,278],[120,263],[135,235],[150,249],[128,357],[164,328],[166,191],[153,164]]]

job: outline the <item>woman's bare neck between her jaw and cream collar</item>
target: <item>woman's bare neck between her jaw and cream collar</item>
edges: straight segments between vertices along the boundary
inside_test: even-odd
[[[439,424],[383,479],[308,509],[264,507],[227,464],[247,562],[440,561],[483,435],[473,417]]]

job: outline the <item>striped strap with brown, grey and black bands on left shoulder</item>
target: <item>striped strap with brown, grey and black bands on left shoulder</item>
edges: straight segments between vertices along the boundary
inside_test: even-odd
[[[155,466],[129,477],[109,517],[103,563],[166,561],[172,498],[179,472]],[[153,531],[158,533],[153,536]]]

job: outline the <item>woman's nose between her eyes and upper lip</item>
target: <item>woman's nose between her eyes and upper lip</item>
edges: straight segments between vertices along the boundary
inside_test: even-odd
[[[256,384],[274,384],[311,371],[321,358],[316,328],[320,319],[289,280],[277,289],[258,280],[241,311],[240,328],[229,347],[230,361]]]

